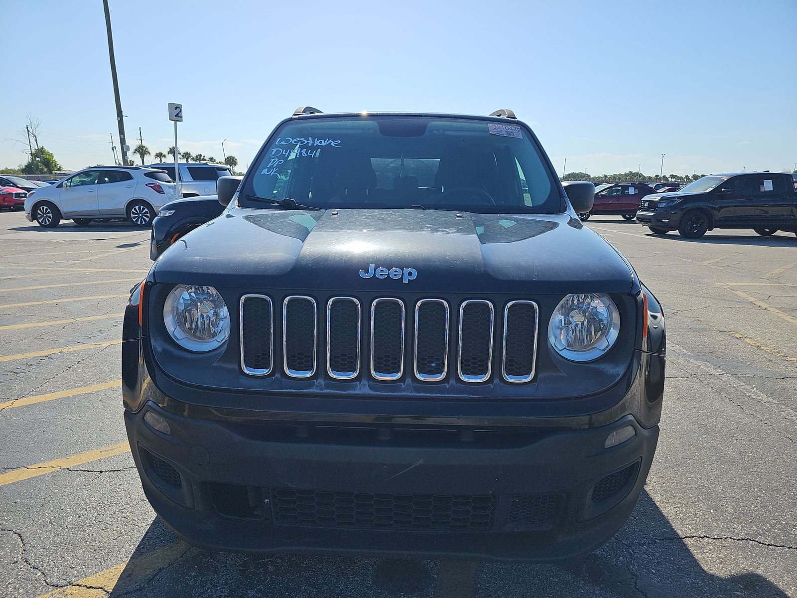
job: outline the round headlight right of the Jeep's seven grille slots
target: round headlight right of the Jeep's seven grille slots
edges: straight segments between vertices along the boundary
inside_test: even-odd
[[[565,359],[592,361],[611,348],[619,330],[620,314],[608,295],[567,295],[551,316],[548,340]]]

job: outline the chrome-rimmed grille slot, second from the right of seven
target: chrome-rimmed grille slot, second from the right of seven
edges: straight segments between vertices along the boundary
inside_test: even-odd
[[[465,382],[485,382],[493,372],[493,304],[463,301],[459,308],[457,369]]]

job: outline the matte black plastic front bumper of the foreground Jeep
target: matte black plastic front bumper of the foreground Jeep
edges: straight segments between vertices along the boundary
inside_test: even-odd
[[[147,411],[171,434],[145,423]],[[152,401],[125,411],[144,493],[186,541],[258,553],[586,554],[629,517],[658,440],[658,427],[632,415],[584,430],[482,436],[422,422],[385,432],[173,411]],[[633,438],[604,448],[626,426]]]

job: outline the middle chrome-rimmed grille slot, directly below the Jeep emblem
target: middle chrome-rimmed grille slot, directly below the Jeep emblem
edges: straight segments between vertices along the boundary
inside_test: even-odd
[[[398,380],[404,374],[404,303],[380,298],[371,304],[371,376]]]

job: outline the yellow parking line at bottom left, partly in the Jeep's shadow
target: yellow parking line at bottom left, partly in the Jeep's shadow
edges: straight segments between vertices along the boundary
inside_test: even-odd
[[[105,598],[171,567],[189,550],[190,546],[185,542],[174,541],[37,598]]]

